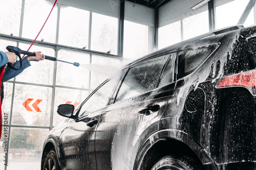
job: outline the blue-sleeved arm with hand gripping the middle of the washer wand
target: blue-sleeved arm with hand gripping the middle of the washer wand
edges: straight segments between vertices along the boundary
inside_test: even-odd
[[[27,56],[22,59],[22,68],[19,70],[14,70],[10,67],[7,67],[5,70],[5,74],[3,77],[3,81],[6,82],[16,76],[18,76],[24,69],[28,68],[31,66],[30,61],[40,61],[45,59],[45,55],[41,54],[41,52],[34,52],[36,56]],[[19,67],[20,61],[16,61],[12,66],[15,68]]]

